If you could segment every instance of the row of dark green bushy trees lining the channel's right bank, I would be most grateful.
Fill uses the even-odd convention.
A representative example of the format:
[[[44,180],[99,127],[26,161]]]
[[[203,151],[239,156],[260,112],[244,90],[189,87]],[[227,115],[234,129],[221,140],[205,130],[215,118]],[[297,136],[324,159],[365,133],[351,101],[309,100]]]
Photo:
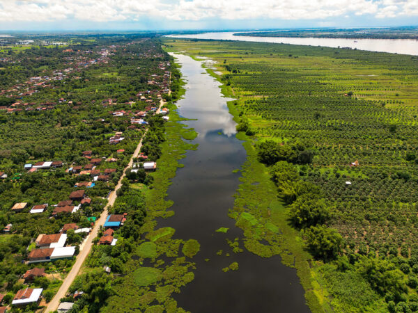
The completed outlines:
[[[289,220],[294,227],[303,231],[307,248],[312,255],[324,261],[335,259],[341,252],[342,236],[336,230],[325,226],[330,218],[330,208],[320,188],[304,182],[297,168],[290,163],[300,162],[301,154],[304,155],[306,152],[303,148],[297,149],[298,146],[302,147],[266,141],[257,146],[258,157],[261,162],[270,166],[272,179],[279,188],[279,195],[289,206]]]

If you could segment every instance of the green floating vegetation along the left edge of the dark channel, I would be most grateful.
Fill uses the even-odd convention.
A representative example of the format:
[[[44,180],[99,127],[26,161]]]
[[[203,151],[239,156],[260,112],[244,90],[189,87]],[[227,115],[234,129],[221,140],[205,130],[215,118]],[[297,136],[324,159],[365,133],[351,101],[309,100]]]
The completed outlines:
[[[114,280],[114,294],[102,312],[185,312],[177,307],[171,294],[180,292],[181,287],[194,279],[192,258],[199,252],[200,245],[194,239],[173,239],[175,229],[157,226],[157,218],[169,218],[174,214],[169,210],[173,203],[165,198],[177,168],[182,167],[178,161],[185,157],[187,150],[197,147],[187,142],[197,136],[196,131],[181,124],[185,119],[176,111],[174,102],[185,92],[183,81],[179,85],[180,89],[166,105],[170,110],[169,121],[165,123],[166,140],[161,145],[158,169],[151,174],[153,184],[130,185],[144,198],[147,216],[140,229],[141,236],[132,242],[123,276]]]

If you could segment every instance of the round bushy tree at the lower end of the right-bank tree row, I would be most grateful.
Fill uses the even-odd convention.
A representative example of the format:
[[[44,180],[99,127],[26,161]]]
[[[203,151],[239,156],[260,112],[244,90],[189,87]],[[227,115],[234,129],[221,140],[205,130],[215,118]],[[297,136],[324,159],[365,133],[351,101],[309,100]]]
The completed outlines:
[[[309,252],[316,259],[329,261],[341,251],[343,237],[336,230],[325,226],[311,226],[304,230],[304,238]]]

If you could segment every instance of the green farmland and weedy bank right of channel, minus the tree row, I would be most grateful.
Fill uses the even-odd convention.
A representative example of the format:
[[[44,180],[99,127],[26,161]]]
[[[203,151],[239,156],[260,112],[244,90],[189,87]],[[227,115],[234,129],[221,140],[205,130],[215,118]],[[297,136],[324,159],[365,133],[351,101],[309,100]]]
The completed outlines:
[[[247,125],[249,136],[240,136],[249,159],[230,216],[245,230],[245,248],[264,257],[280,253],[295,266],[314,312],[415,312],[418,57],[256,42],[163,42],[169,51],[216,61],[208,72],[237,99],[229,106]],[[268,140],[314,155],[294,168],[297,180],[319,187],[330,210],[325,225],[342,235],[334,260],[314,261],[304,251],[304,232],[288,220],[291,206],[277,201],[271,169],[256,158],[258,143]]]

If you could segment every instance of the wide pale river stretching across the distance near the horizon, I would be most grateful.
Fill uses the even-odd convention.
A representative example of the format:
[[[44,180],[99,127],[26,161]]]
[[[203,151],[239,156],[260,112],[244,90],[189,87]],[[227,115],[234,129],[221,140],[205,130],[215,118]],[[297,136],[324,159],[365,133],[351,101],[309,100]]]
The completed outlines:
[[[198,33],[193,35],[168,35],[173,38],[196,38],[214,40],[238,40],[254,42],[274,42],[291,45],[309,45],[323,47],[350,47],[352,49],[389,52],[392,54],[418,55],[418,40],[413,39],[346,39],[346,38],[286,38],[235,36],[236,31]]]

